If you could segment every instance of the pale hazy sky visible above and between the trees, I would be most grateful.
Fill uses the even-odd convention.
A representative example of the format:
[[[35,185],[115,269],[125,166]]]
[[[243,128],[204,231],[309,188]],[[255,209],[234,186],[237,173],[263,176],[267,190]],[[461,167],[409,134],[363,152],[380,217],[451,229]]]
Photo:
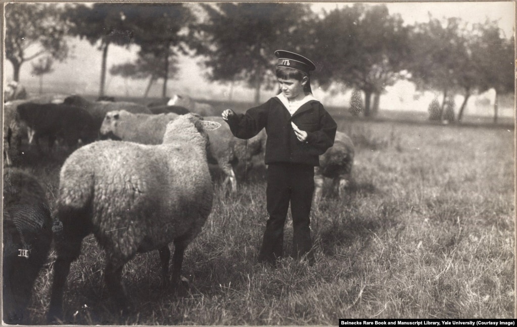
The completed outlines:
[[[340,6],[349,6],[352,3],[314,3],[313,9],[316,12],[321,10],[330,11]],[[378,4],[378,3],[369,3]],[[486,18],[490,20],[497,20],[499,27],[504,30],[507,37],[514,34],[514,3],[512,1],[505,2],[395,2],[386,3],[390,14],[400,13],[402,19],[406,24],[414,24],[415,22],[428,21],[428,13],[431,13],[433,18],[442,19],[449,17],[459,17],[465,22],[482,23]],[[97,51],[92,45],[86,41],[75,41],[75,50],[73,57],[69,58],[65,63],[55,65],[54,72],[44,75],[44,81],[55,81],[63,85],[64,92],[77,92],[97,94],[100,80],[100,63],[101,53]],[[132,60],[136,57],[136,47],[133,46],[130,50],[121,48],[119,46],[110,46],[108,53],[108,69],[119,63]],[[189,58],[181,57],[179,61],[180,72],[175,80],[170,81],[169,96],[179,94],[189,94],[193,98],[198,99],[228,99],[230,96],[230,86],[220,85],[218,83],[209,83],[203,77],[203,72],[196,65],[196,63]],[[25,63],[22,66],[20,80],[28,86],[34,87],[37,85],[38,78],[31,76],[32,66],[30,63]],[[5,62],[5,76],[6,80],[10,81],[12,77],[11,64]],[[399,90],[397,99],[402,99],[402,95],[406,94],[408,97],[413,97],[414,89],[404,84],[404,89]],[[144,94],[147,81],[124,81],[121,77],[114,77],[107,75],[107,95],[113,96],[141,96]],[[159,96],[161,90],[161,81],[155,85],[151,96]],[[267,91],[263,92],[262,98],[267,99],[269,94]],[[323,91],[314,90],[315,96],[319,95],[322,100],[342,102],[345,99],[339,97],[329,97]],[[253,99],[253,90],[247,89],[243,86],[235,85],[232,89],[233,99],[251,100]],[[385,99],[383,101],[383,99]],[[389,101],[389,95],[383,96],[381,107],[383,103]],[[346,100],[348,101],[348,100]],[[400,106],[400,103],[396,104]]]

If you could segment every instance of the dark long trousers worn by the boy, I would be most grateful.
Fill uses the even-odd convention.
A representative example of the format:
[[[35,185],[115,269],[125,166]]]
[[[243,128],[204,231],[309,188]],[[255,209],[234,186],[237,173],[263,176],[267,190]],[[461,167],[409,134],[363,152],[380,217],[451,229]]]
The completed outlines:
[[[310,214],[314,192],[314,167],[301,164],[270,164],[267,168],[267,212],[269,218],[264,231],[258,261],[275,263],[282,257],[284,224],[291,203],[293,216],[293,252],[295,259],[311,251]]]

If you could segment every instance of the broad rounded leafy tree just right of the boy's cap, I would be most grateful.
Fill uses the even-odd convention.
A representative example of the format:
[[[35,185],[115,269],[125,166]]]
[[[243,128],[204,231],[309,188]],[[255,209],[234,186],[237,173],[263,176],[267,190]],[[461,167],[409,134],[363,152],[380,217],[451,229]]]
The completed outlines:
[[[404,76],[409,60],[408,27],[385,5],[355,4],[334,9],[315,23],[307,50],[323,63],[318,81],[343,82],[364,92],[364,115],[370,116],[386,86]]]

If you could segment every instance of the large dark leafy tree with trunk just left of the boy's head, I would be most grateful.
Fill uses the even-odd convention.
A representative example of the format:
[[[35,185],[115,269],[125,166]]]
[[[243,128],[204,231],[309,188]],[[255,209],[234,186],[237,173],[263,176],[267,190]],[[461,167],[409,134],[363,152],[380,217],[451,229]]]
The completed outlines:
[[[211,81],[245,81],[260,101],[278,49],[300,50],[300,24],[310,15],[306,4],[219,3],[203,4],[207,19],[191,28]],[[270,75],[269,75],[270,76]]]

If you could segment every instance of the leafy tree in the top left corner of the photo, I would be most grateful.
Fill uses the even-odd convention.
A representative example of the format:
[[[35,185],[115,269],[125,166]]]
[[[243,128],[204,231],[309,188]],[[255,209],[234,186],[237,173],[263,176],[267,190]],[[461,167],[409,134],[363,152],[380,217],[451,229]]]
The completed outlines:
[[[68,56],[66,24],[55,4],[9,3],[5,5],[5,56],[20,81],[24,63],[42,56],[63,61]]]

